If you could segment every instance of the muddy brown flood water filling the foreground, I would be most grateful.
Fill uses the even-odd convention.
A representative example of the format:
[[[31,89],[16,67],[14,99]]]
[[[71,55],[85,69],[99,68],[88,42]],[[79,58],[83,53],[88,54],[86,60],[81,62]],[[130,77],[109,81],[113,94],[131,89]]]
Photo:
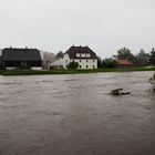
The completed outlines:
[[[0,76],[0,155],[155,155],[152,75]]]

